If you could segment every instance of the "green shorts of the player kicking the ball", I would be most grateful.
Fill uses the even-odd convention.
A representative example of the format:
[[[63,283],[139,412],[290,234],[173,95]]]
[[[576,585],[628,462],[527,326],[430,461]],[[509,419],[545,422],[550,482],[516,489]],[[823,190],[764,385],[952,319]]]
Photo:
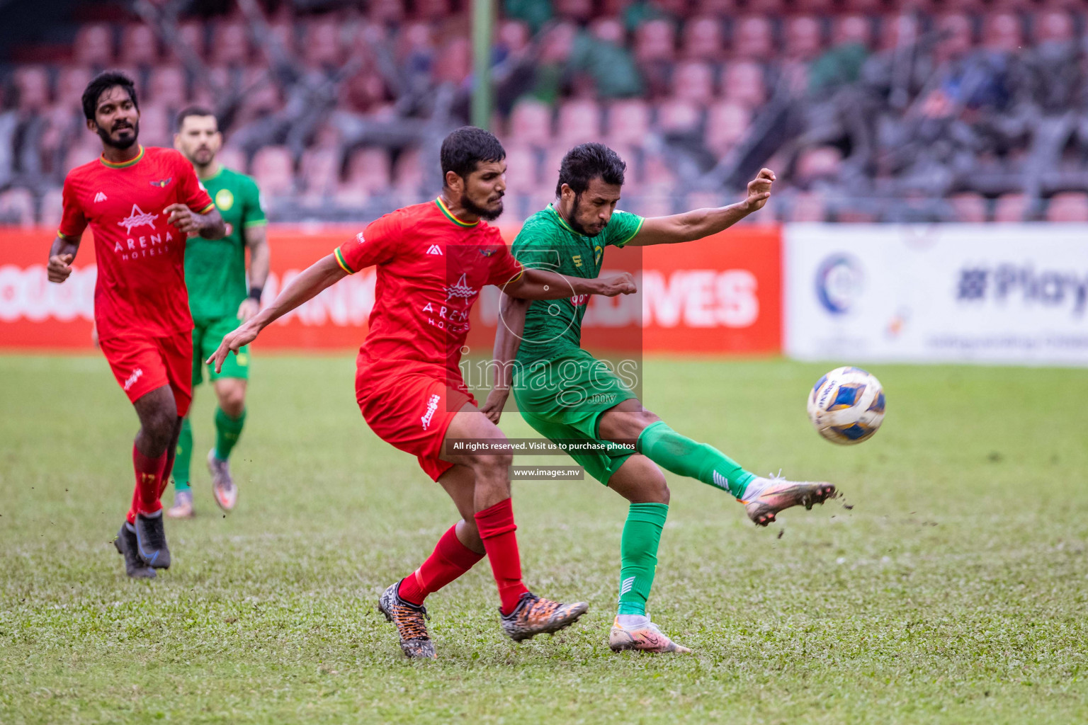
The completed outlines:
[[[607,363],[589,352],[572,350],[516,371],[512,391],[521,417],[548,440],[615,446],[616,450],[603,453],[570,453],[605,486],[632,455],[630,448],[602,440],[597,436],[597,421],[601,413],[636,396]]]

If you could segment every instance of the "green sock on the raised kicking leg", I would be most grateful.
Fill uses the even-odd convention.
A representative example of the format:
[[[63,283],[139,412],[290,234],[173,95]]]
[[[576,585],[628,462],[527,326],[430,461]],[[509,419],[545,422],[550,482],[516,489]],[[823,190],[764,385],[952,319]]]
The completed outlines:
[[[665,425],[651,423],[639,436],[639,452],[680,476],[697,478],[740,498],[755,474],[749,473],[714,446],[698,443]]]

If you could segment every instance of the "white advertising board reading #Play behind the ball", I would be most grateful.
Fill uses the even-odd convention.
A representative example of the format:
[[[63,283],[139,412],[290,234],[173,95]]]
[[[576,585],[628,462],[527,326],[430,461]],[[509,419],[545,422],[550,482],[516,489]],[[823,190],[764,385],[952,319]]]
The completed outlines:
[[[790,224],[786,353],[1088,365],[1088,225]]]

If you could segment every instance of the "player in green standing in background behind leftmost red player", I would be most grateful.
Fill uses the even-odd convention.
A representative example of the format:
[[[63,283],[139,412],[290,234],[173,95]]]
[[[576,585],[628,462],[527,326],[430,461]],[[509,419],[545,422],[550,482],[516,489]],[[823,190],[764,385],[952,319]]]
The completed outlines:
[[[254,179],[222,166],[215,153],[223,143],[215,115],[206,109],[188,108],[177,116],[174,147],[196,168],[200,183],[226,222],[226,236],[209,241],[190,237],[185,247],[185,284],[189,288],[193,313],[193,385],[203,379],[207,360],[223,336],[260,311],[261,290],[269,276],[269,248],[264,212]],[[246,249],[249,249],[249,286],[246,286]],[[227,358],[217,373],[208,367],[215,390],[215,446],[208,452],[212,493],[223,511],[231,511],[238,488],[231,477],[230,457],[246,422],[246,382],[249,379],[249,350]],[[182,422],[174,459],[174,505],[166,515],[193,516],[189,462],[193,458],[193,427],[188,415]]]

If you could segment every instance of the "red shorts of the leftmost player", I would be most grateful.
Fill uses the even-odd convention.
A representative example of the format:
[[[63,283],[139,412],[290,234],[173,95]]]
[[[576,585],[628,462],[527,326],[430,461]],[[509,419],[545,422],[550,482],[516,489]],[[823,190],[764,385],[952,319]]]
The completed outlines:
[[[101,340],[118,385],[136,402],[156,388],[174,391],[177,414],[185,415],[193,402],[193,333],[170,337],[126,335]]]

